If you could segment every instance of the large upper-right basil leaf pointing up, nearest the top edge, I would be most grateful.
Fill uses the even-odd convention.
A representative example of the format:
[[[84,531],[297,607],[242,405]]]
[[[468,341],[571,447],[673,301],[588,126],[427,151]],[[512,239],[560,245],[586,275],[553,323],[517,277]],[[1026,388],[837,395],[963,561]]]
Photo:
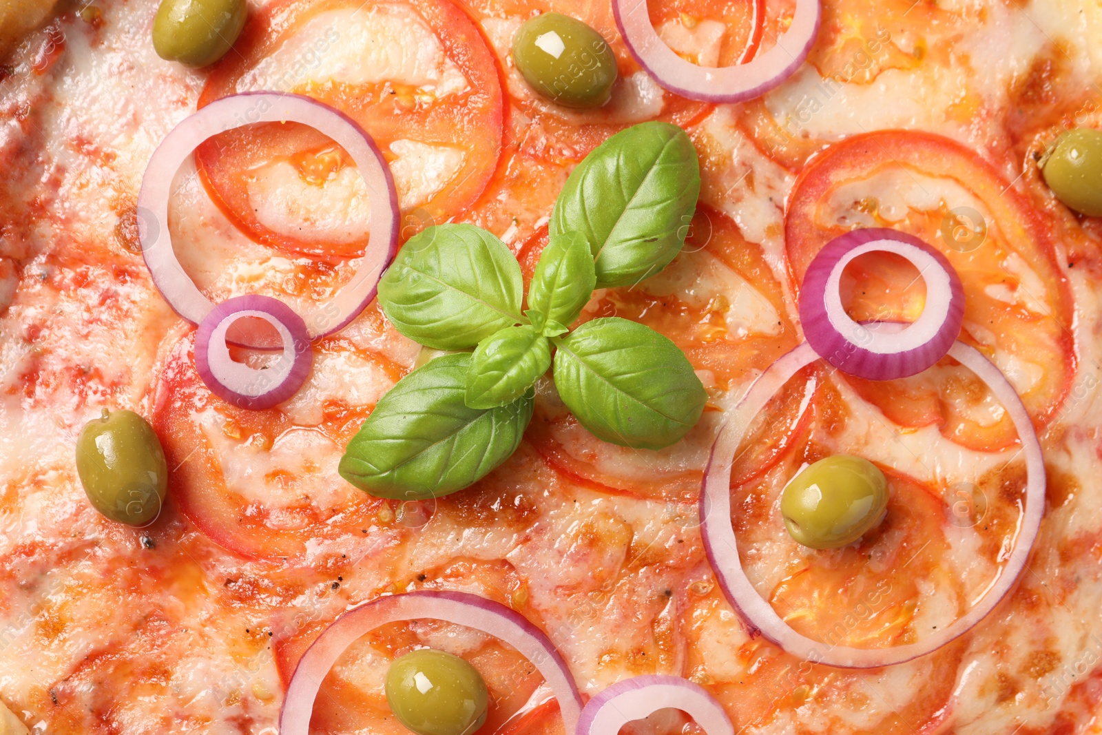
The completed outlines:
[[[606,140],[571,172],[550,233],[585,236],[598,288],[638,283],[681,251],[699,195],[689,136],[667,122],[644,122]]]

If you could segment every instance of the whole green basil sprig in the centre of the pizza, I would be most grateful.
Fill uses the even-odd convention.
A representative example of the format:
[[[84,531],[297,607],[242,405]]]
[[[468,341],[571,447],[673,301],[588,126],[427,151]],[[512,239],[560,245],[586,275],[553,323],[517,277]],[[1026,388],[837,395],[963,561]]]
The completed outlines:
[[[349,442],[341,475],[389,498],[467,487],[516,451],[549,368],[597,437],[649,450],[679,441],[707,399],[684,353],[624,318],[569,325],[594,288],[637,283],[680,252],[699,192],[680,128],[645,122],[609,138],[566,180],[525,311],[520,266],[494,235],[440,225],[411,238],[379,282],[383,313],[426,347],[474,352],[399,380]]]

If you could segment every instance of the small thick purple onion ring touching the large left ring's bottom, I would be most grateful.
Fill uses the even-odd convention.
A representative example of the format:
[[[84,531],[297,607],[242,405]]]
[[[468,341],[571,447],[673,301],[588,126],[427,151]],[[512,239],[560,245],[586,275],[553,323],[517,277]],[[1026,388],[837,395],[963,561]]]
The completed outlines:
[[[237,320],[257,317],[280,335],[283,354],[271,367],[257,369],[229,356],[226,331]],[[242,409],[260,411],[298,392],[313,364],[310,334],[302,317],[271,296],[234,296],[222,302],[199,322],[195,335],[195,367],[215,396]]]

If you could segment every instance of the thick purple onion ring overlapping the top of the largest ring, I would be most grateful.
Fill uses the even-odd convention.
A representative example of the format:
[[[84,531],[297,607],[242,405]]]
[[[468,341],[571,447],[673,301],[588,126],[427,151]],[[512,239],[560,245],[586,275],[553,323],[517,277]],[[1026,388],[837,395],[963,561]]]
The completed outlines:
[[[842,271],[857,256],[876,251],[906,258],[926,281],[926,307],[903,329],[857,324],[842,306]],[[963,321],[964,288],[957,270],[934,248],[895,229],[856,229],[835,237],[803,275],[800,322],[808,344],[858,378],[893,380],[921,372],[946,356]]]

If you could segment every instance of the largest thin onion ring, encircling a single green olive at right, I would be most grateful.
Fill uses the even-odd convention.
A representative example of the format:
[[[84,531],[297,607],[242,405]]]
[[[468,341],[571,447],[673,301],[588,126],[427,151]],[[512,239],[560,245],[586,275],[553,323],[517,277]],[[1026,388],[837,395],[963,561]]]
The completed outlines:
[[[769,398],[798,370],[817,359],[814,349],[808,343],[803,343],[769,366],[750,386],[749,391],[734,409],[732,418],[720,430],[704,471],[700,511],[704,550],[727,599],[752,626],[752,635],[760,633],[788,653],[814,663],[850,669],[873,669],[904,663],[931,653],[971,630],[1014,586],[1037,540],[1045,510],[1045,463],[1040,444],[1022,399],[994,364],[974,347],[962,342],[955,343],[949,349],[949,355],[987,383],[995,397],[1006,407],[1017,429],[1026,460],[1026,509],[1009,560],[1000,572],[996,582],[979,603],[949,627],[925,637],[917,644],[880,649],[831,647],[807,638],[785,623],[774,612],[773,606],[758,595],[743,570],[735,531],[731,523],[731,465],[750,422],[761,412]]]

